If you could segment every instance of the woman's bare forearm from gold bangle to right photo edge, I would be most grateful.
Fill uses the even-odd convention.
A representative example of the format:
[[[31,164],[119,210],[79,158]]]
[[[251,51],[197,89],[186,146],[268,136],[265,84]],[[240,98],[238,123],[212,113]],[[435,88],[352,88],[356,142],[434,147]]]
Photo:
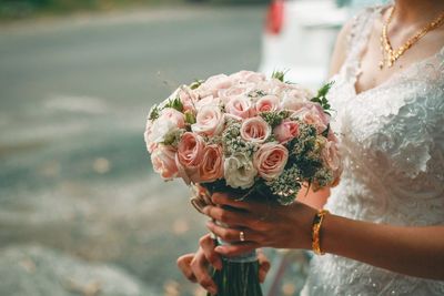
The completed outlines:
[[[402,227],[326,215],[321,246],[392,272],[444,279],[444,226]]]

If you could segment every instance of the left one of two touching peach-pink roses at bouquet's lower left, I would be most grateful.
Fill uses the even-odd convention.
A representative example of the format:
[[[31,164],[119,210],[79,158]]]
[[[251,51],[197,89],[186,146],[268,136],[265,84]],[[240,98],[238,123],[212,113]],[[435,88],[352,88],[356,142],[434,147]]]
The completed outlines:
[[[199,165],[202,162],[204,147],[203,139],[191,132],[184,133],[179,142],[175,163],[180,176],[186,184],[200,181]]]

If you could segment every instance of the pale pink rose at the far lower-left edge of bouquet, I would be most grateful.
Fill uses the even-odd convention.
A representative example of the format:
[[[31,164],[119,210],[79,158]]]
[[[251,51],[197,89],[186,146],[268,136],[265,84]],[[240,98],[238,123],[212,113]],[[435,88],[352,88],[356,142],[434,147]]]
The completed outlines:
[[[178,166],[175,164],[175,150],[171,146],[159,145],[151,153],[151,162],[154,172],[164,180],[172,180],[178,176]]]

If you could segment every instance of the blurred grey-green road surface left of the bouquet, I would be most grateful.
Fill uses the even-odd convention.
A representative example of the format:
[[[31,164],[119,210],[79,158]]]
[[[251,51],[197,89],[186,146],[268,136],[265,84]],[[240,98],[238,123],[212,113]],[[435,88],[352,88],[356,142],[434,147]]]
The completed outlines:
[[[72,261],[115,268],[140,295],[201,295],[175,258],[203,218],[184,185],[152,173],[144,119],[179,83],[255,70],[263,17],[195,7],[0,28],[0,295],[98,295],[94,275],[74,285],[63,273],[65,294],[51,289],[60,280],[32,287],[30,275]]]

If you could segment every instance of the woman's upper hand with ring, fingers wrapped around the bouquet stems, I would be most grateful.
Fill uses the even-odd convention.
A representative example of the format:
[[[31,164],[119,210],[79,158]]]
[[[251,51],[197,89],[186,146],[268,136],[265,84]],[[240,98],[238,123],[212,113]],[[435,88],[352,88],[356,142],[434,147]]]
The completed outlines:
[[[316,210],[295,202],[291,205],[236,201],[215,193],[218,206],[206,206],[203,213],[221,222],[208,223],[208,228],[231,245],[218,246],[215,252],[236,256],[266,246],[275,248],[311,248],[312,221]],[[241,242],[241,232],[244,241]]]

